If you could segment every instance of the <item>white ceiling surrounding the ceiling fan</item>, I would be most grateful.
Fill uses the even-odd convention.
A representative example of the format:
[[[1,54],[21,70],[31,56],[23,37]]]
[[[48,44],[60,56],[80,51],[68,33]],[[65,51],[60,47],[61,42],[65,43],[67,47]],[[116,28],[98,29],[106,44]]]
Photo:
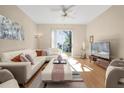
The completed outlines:
[[[59,5],[19,5],[36,24],[87,24],[111,6],[108,5],[75,5],[71,8],[71,17],[61,17]]]

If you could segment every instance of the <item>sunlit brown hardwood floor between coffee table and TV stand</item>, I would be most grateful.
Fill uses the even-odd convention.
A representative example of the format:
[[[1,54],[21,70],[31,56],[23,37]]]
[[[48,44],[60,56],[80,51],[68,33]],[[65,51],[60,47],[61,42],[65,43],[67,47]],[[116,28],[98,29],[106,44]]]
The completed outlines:
[[[105,69],[99,67],[88,59],[77,59],[83,68],[81,76],[85,84],[89,88],[104,88],[105,87]]]

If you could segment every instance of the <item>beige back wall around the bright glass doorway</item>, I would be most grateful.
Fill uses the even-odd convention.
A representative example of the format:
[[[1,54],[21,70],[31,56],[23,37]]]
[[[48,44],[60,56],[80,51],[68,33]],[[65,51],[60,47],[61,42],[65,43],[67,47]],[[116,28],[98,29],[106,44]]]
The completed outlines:
[[[39,39],[39,48],[50,48],[52,30],[70,29],[72,30],[73,56],[80,56],[82,42],[86,40],[86,25],[38,25],[38,32],[43,36]]]

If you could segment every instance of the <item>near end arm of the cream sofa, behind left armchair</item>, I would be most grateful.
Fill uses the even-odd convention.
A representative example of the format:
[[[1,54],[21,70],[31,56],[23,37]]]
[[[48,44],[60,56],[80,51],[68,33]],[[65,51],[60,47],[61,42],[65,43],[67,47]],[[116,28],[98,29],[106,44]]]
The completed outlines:
[[[31,77],[30,62],[1,62],[0,67],[10,70],[19,84],[26,83]]]

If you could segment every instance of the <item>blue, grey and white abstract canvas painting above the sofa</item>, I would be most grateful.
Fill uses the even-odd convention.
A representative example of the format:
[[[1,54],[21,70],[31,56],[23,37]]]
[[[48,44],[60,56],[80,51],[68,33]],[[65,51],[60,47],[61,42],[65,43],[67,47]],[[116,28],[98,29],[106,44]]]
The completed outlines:
[[[9,18],[0,15],[0,39],[24,40],[22,26],[12,22]]]

